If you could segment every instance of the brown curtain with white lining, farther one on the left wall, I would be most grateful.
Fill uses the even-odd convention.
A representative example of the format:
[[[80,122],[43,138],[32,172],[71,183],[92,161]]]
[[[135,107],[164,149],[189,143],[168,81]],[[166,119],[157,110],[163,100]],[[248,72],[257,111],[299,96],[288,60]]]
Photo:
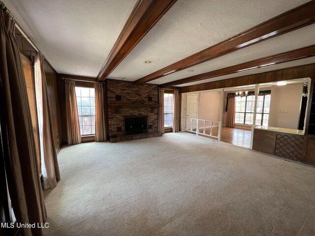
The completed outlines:
[[[41,136],[41,171],[43,175],[43,188],[54,188],[57,186],[57,181],[60,180],[59,165],[56,153],[56,147],[54,142],[54,130],[53,130],[53,120],[50,110],[50,102],[47,93],[47,81],[44,68],[44,58],[41,55],[35,57],[35,77],[37,80],[41,81],[41,102],[40,104],[41,111],[38,114],[41,114],[42,118],[39,120],[40,136]]]

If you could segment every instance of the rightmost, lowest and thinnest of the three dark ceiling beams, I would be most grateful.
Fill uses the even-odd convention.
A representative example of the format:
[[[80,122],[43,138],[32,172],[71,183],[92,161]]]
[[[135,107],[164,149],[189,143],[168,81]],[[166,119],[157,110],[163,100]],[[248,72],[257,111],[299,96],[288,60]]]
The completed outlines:
[[[182,84],[186,84],[190,82],[210,79],[210,78],[214,78],[214,77],[218,77],[222,75],[234,74],[234,73],[238,73],[238,72],[242,72],[246,70],[262,68],[269,65],[275,65],[279,63],[288,62],[291,60],[303,59],[303,58],[308,58],[308,57],[313,57],[313,56],[315,56],[315,45],[277,54],[271,57],[248,61],[245,63],[225,67],[222,69],[206,72],[199,75],[194,75],[194,76],[184,78],[181,80],[176,80],[169,83],[161,84],[159,87],[164,88],[168,86],[182,85]]]

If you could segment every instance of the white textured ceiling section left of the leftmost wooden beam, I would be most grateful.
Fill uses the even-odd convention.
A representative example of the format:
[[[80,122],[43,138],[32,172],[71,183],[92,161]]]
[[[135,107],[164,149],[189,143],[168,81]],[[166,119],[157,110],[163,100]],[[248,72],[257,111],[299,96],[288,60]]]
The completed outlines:
[[[96,77],[136,0],[2,0],[59,73]]]

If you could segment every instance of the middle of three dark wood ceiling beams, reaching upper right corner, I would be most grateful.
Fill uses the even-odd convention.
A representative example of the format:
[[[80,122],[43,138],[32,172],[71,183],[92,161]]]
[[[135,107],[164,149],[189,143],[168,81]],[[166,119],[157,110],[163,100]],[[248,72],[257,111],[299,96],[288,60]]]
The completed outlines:
[[[315,23],[315,0],[307,2],[260,25],[228,38],[185,59],[179,60],[133,82],[140,85],[190,66],[215,59],[239,49]]]

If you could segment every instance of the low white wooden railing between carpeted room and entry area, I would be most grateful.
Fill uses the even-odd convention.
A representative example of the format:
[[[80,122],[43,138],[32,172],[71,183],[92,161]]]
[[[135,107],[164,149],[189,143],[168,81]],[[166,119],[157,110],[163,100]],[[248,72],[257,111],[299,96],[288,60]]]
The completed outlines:
[[[217,136],[213,132],[213,127],[218,127]],[[196,135],[202,134],[211,138],[218,138],[220,137],[219,127],[220,121],[182,117],[182,130],[195,133]]]

